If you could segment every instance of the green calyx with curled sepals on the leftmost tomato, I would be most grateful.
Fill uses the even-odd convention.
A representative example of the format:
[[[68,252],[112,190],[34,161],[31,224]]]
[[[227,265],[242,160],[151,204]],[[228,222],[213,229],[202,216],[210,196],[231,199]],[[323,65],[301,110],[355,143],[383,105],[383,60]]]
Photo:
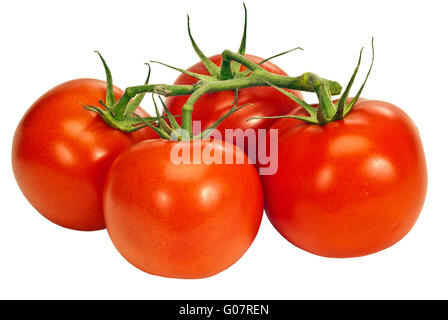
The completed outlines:
[[[126,105],[124,105],[125,108],[120,105],[117,106],[113,89],[112,73],[107,66],[107,63],[104,60],[103,56],[98,51],[95,52],[100,57],[101,62],[103,63],[104,70],[106,72],[106,101],[98,101],[98,103],[103,108],[99,108],[93,105],[83,105],[83,108],[85,110],[97,113],[110,127],[121,130],[123,132],[134,132],[145,127],[146,125],[142,121],[142,119],[144,119],[146,122],[156,121],[157,117],[138,118],[134,116],[134,111],[142,102],[145,93],[138,94],[134,99],[129,100]],[[151,75],[151,67],[149,64],[146,65],[148,66],[148,75],[146,77],[145,84],[148,84],[149,77]]]

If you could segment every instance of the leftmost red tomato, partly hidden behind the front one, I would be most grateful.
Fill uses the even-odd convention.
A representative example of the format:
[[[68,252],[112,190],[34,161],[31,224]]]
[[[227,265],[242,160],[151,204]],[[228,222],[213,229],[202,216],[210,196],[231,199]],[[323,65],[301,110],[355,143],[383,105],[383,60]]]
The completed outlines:
[[[114,88],[114,94],[123,92]],[[60,84],[30,107],[14,135],[12,166],[20,189],[43,216],[66,228],[105,228],[102,189],[110,165],[130,145],[157,136],[149,128],[132,134],[112,129],[80,104],[99,107],[105,96],[100,80]]]

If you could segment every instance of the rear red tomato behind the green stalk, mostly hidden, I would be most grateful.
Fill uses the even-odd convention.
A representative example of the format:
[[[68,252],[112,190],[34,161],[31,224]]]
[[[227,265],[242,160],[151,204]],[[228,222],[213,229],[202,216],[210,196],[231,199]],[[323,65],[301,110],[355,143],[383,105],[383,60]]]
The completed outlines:
[[[262,58],[249,54],[246,54],[245,57],[255,63],[260,63],[263,60]],[[222,56],[215,55],[210,57],[210,60],[216,65],[221,66]],[[261,67],[274,74],[287,75],[282,69],[269,61],[263,63]],[[241,70],[245,69],[246,68],[243,66]],[[195,73],[208,75],[207,69],[205,69],[202,62],[193,65],[188,70]],[[174,84],[186,85],[194,84],[196,82],[197,80],[193,77],[181,74],[176,79]],[[299,91],[290,91],[302,98]],[[166,105],[172,114],[181,115],[182,106],[188,98],[189,96],[167,97]],[[207,93],[201,96],[194,104],[194,111],[192,115],[193,121],[200,120],[202,129],[208,128],[230,109],[232,104],[235,103],[234,99],[235,94],[233,91]],[[294,110],[297,106],[293,100],[276,89],[270,87],[246,88],[239,90],[238,105],[244,105],[247,103],[250,103],[250,105],[247,105],[238,112],[235,112],[218,126],[217,129],[222,134],[224,134],[225,129],[269,129],[275,123],[275,119],[259,119],[252,121],[246,120],[251,117],[268,117],[287,114]],[[230,142],[234,143],[234,141]]]

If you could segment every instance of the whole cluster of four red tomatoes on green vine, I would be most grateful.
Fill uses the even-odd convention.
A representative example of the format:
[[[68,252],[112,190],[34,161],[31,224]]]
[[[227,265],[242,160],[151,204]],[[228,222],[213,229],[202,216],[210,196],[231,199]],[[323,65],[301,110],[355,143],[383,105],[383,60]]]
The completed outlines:
[[[201,62],[178,69],[171,86],[122,91],[103,60],[107,82],[72,80],[31,106],[14,135],[12,167],[37,211],[70,229],[107,228],[130,263],[174,278],[208,277],[234,264],[264,209],[288,241],[326,257],[371,254],[406,235],[422,209],[427,172],[404,111],[359,99],[360,92],[347,99],[353,81],[332,101],[334,82],[288,77],[245,55],[245,45],[206,58],[192,43]],[[320,103],[306,104],[301,88]],[[162,115],[137,107],[135,96],[147,92],[168,96]],[[241,104],[249,105],[235,108]],[[221,133],[269,130],[258,146],[275,153],[276,170],[260,175],[264,164],[233,139],[192,134],[193,120],[220,125]]]

